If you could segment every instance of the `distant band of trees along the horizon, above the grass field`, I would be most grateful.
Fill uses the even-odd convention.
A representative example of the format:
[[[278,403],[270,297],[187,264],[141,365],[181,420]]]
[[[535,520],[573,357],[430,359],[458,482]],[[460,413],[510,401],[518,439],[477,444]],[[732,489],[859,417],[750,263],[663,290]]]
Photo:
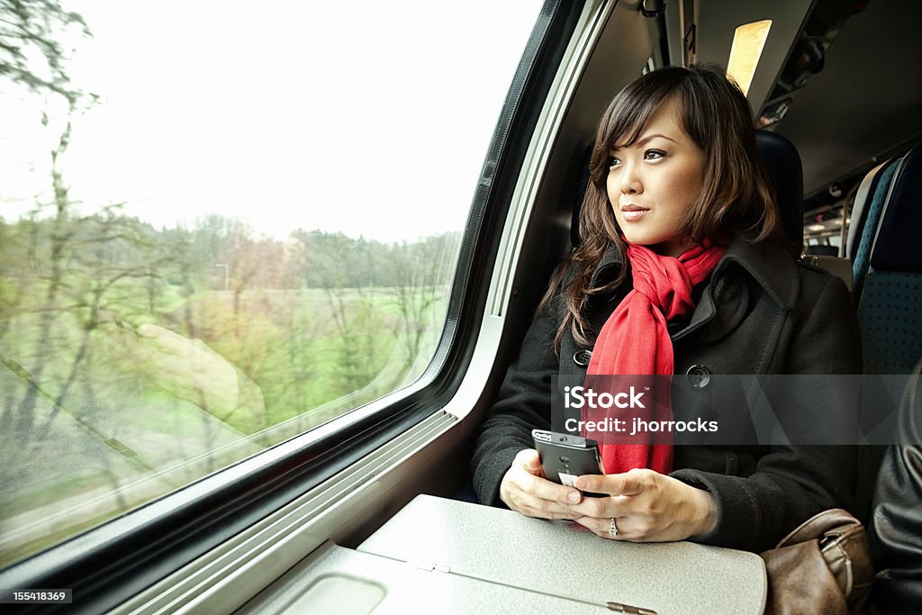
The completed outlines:
[[[84,272],[149,278],[149,284],[183,285],[187,291],[431,286],[445,281],[444,259],[460,237],[446,232],[386,243],[297,230],[279,241],[220,215],[200,219],[192,229],[157,230],[122,215],[121,206],[85,217],[69,215],[68,207],[62,216],[42,216],[47,209],[38,207],[12,222],[0,216],[4,278]]]

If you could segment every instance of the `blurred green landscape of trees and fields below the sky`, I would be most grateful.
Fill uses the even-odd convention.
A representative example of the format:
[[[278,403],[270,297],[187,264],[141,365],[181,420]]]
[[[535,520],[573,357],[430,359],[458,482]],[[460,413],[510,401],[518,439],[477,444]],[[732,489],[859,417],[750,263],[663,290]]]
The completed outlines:
[[[0,222],[5,534],[18,515],[79,519],[74,497],[106,501],[94,519],[126,510],[358,408],[419,377],[442,333],[459,233],[281,242],[219,216],[156,230],[118,207],[41,211]],[[219,359],[190,365],[145,325]]]

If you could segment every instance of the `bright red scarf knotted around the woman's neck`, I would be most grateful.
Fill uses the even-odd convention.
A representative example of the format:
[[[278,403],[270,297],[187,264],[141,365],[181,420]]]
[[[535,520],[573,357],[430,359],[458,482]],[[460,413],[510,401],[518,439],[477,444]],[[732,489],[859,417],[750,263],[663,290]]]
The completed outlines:
[[[667,323],[686,318],[694,311],[691,290],[701,284],[723,257],[726,248],[696,246],[679,257],[660,256],[643,245],[628,244],[633,290],[609,316],[598,334],[592,360],[586,371],[594,374],[638,374],[671,376],[675,364]],[[654,379],[663,383],[663,378]],[[668,379],[666,380],[668,383]],[[587,384],[588,388],[591,388]],[[666,390],[659,390],[665,388]],[[672,418],[669,387],[653,387],[652,395],[663,411],[655,420]],[[653,404],[647,404],[652,407]],[[663,416],[663,415],[666,416]],[[618,416],[623,415],[619,414]],[[628,415],[630,416],[630,415]],[[631,432],[630,421],[628,433]],[[672,470],[672,444],[599,444],[606,474],[649,467],[668,474]]]

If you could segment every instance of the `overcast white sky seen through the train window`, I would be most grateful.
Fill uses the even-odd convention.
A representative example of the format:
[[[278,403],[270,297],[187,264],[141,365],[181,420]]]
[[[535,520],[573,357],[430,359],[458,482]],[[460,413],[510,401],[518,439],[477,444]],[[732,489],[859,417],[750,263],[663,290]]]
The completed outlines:
[[[540,0],[66,3],[100,104],[62,168],[89,207],[156,225],[219,213],[383,241],[460,229]],[[0,83],[0,215],[50,194],[62,117]]]

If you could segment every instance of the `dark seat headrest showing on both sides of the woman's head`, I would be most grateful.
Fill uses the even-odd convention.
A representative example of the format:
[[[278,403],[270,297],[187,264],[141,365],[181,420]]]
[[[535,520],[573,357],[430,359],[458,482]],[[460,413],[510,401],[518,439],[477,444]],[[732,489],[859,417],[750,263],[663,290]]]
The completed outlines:
[[[778,214],[781,219],[785,237],[798,248],[804,242],[803,169],[800,155],[794,144],[784,136],[767,130],[755,131],[756,146],[762,164],[774,182],[775,199],[778,202]],[[589,182],[589,160],[592,158],[592,145],[585,148],[580,165],[579,186],[576,191],[576,203],[570,223],[570,241],[573,247],[579,245],[579,212],[583,207],[585,188]]]

